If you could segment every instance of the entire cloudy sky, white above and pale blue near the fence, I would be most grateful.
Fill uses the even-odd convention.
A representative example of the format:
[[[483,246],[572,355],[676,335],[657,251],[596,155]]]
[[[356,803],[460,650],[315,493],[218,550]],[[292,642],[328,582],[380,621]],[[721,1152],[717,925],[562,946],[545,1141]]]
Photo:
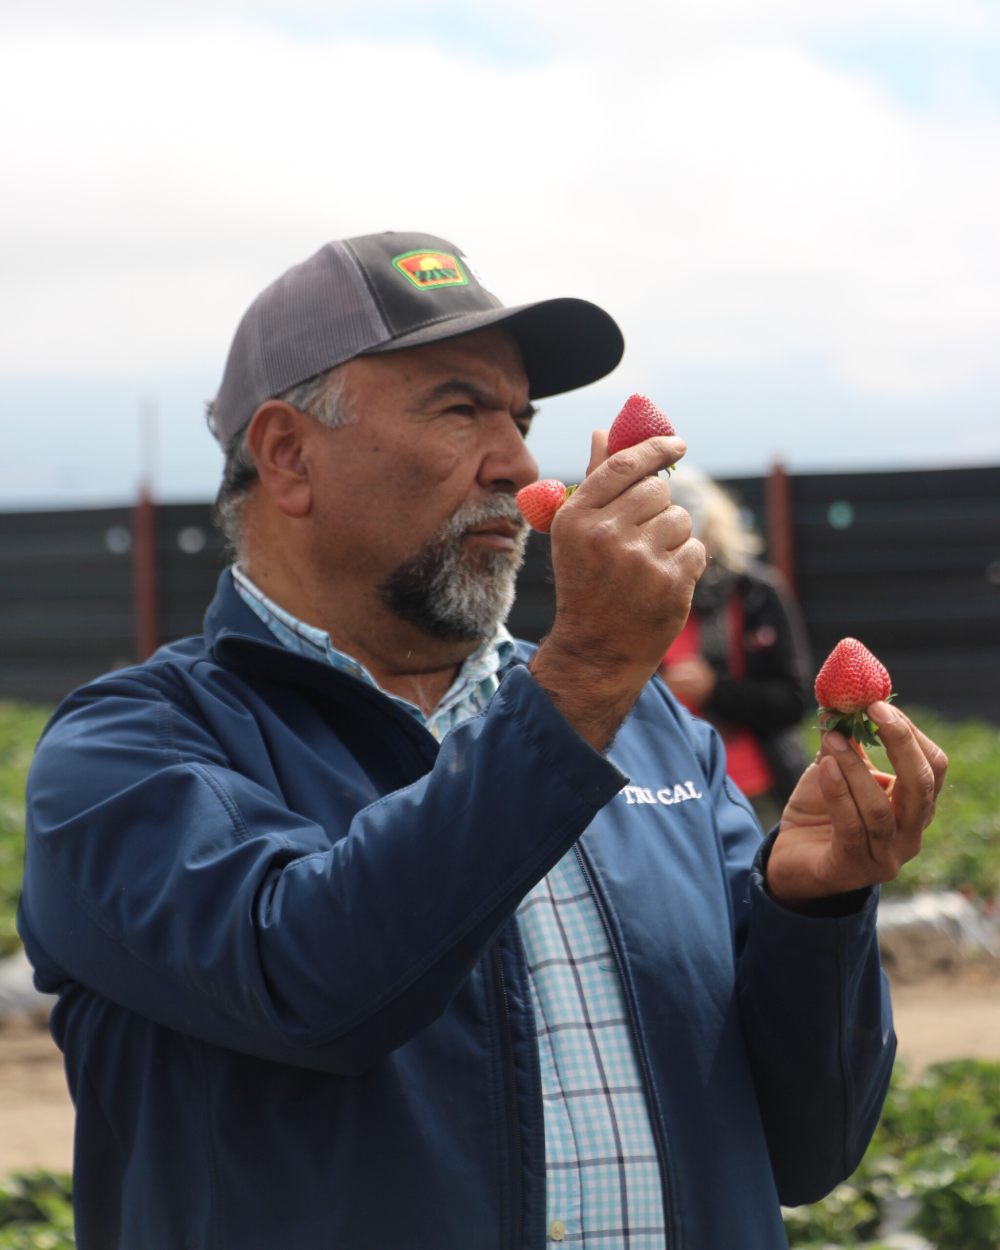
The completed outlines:
[[[0,506],[212,494],[258,290],[428,230],[628,342],[720,474],[1000,461],[998,0],[0,0]]]

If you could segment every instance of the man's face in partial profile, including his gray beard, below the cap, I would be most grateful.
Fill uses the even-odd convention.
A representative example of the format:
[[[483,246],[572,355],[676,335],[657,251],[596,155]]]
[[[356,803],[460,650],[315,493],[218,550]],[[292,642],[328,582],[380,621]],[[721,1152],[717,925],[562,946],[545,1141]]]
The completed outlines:
[[[319,430],[310,448],[315,554],[368,575],[436,638],[489,635],[528,536],[514,495],[538,476],[516,342],[490,329],[359,358],[345,375],[355,421]]]

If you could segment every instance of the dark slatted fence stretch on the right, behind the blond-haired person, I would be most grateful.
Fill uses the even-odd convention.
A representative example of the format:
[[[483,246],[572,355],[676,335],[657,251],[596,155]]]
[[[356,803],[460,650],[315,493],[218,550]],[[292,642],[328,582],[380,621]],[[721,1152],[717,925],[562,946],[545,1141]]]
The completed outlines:
[[[765,479],[725,485],[764,531]],[[852,635],[904,704],[1000,722],[1000,469],[801,474],[791,486],[816,662]]]

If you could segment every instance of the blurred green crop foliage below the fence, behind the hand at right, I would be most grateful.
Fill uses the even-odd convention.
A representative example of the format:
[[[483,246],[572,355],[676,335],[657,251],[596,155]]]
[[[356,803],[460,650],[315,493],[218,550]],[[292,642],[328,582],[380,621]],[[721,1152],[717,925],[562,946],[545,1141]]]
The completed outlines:
[[[944,750],[949,768],[922,851],[886,889],[911,894],[969,885],[990,898],[1000,892],[1000,730],[982,720],[956,722],[919,709],[905,711]],[[805,739],[811,759],[819,748],[815,721]],[[869,755],[878,768],[892,771],[880,746]]]

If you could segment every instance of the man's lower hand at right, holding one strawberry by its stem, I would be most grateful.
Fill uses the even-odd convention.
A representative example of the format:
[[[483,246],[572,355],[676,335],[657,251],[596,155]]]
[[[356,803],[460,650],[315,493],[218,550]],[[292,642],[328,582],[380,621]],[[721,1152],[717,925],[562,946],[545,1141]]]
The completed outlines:
[[[879,772],[838,732],[824,734],[795,788],[768,861],[782,906],[880,885],[920,851],[948,769],[945,752],[899,709],[868,709],[896,775]]]

